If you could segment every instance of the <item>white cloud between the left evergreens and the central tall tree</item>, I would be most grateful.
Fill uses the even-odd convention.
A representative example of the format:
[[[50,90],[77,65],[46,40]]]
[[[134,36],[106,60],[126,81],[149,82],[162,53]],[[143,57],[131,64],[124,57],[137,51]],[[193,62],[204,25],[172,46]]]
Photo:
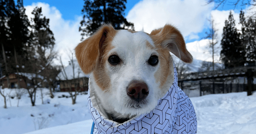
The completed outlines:
[[[80,43],[81,35],[79,33],[80,20],[82,17],[77,16],[76,20],[64,20],[61,12],[54,6],[49,6],[47,3],[32,3],[31,6],[25,6],[26,15],[29,20],[33,17],[31,12],[38,6],[42,7],[42,14],[46,18],[49,18],[49,26],[55,37],[55,49],[61,55],[64,65],[68,65],[69,58],[66,52],[71,49],[73,50],[78,43]],[[58,62],[55,62],[58,64]]]

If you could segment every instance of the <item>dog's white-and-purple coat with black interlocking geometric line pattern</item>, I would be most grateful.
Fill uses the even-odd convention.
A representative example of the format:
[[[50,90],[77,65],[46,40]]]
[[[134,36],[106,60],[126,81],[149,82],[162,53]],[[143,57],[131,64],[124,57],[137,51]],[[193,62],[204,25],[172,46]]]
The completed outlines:
[[[125,123],[105,119],[93,107],[88,92],[88,106],[95,123],[93,134],[196,134],[197,118],[189,97],[177,86],[175,80],[169,91],[158,100],[158,105],[148,114],[134,117]]]

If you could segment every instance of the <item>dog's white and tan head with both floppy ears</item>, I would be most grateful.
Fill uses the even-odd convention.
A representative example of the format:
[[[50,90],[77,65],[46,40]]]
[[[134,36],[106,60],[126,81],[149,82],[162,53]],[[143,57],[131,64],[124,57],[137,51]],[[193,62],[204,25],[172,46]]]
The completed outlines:
[[[147,34],[102,26],[76,47],[81,69],[90,75],[90,90],[116,118],[147,113],[173,83],[171,51],[192,62],[182,35],[166,25]]]

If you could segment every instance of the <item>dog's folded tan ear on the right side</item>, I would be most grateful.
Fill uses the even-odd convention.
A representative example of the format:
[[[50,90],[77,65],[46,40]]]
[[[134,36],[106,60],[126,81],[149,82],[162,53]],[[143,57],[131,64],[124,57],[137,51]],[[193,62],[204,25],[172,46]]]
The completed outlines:
[[[187,51],[185,41],[180,34],[180,31],[171,25],[165,25],[163,28],[153,30],[150,34],[154,37],[157,44],[167,48],[185,63],[192,63],[193,57]]]

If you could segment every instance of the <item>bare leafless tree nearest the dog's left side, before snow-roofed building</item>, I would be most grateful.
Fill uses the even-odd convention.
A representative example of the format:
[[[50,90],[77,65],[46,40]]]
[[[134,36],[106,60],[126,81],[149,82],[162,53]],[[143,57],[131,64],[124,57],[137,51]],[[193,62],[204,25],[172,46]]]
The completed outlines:
[[[65,70],[65,67],[63,65],[63,62],[61,60],[61,56],[59,56],[57,58],[57,60],[59,61],[59,63],[61,63],[61,74],[64,77],[64,80],[66,80],[66,84],[67,84],[67,88],[68,88],[68,92],[70,94],[70,97],[72,99],[72,104],[76,104],[76,96],[78,95],[78,93],[81,91],[80,88],[80,74],[81,74],[81,69],[79,68],[79,66],[75,63],[75,59],[74,59],[74,53],[69,50],[69,53],[67,53],[70,62],[69,65],[72,68],[72,77],[69,77],[67,75],[67,71]],[[77,74],[77,75],[76,75]],[[59,79],[61,79],[59,77]]]

